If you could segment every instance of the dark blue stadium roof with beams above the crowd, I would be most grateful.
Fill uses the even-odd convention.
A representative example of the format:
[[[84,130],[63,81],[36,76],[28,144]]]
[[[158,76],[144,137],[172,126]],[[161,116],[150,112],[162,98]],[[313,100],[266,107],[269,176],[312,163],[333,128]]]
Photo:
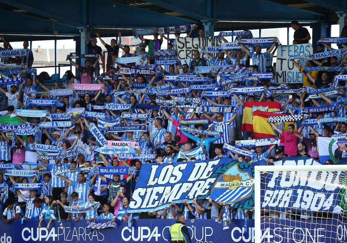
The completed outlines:
[[[294,19],[337,24],[336,12],[347,12],[346,0],[0,0],[0,34],[64,39],[80,36],[87,25],[107,36],[118,30],[130,35],[134,27],[210,22],[215,31],[288,27]]]

